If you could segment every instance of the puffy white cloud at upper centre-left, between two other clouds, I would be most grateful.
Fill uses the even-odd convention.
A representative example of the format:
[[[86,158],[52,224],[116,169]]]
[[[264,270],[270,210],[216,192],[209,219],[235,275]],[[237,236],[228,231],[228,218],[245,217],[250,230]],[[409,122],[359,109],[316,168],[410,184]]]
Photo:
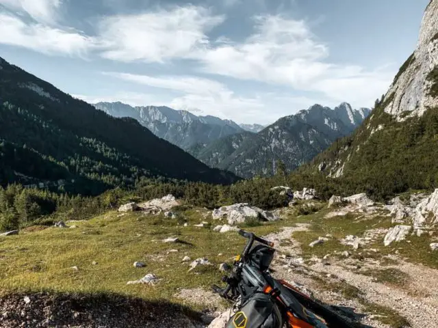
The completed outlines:
[[[163,62],[186,57],[209,42],[206,31],[222,23],[203,7],[188,5],[136,15],[103,18],[101,55],[118,61]]]

